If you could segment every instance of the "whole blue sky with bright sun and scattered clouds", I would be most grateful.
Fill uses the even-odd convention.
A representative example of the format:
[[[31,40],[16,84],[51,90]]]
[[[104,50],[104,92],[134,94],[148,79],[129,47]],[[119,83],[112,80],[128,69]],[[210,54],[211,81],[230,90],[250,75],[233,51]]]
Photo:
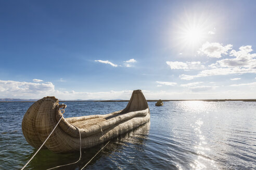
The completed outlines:
[[[1,1],[0,98],[255,98],[255,1]]]

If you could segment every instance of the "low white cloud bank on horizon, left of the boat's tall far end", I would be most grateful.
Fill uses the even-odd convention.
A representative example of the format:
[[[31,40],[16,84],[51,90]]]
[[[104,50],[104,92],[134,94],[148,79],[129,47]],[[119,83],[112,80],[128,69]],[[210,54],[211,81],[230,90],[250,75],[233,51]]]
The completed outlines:
[[[0,80],[0,96],[3,98],[39,99],[45,96],[56,96],[60,100],[76,99],[129,99],[131,90],[107,92],[58,91],[52,82],[35,83],[25,81]]]

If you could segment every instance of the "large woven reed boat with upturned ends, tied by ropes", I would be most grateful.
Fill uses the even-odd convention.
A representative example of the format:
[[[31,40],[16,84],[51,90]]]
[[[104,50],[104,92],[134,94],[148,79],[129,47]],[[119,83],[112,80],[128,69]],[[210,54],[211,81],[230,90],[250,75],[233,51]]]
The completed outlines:
[[[25,113],[22,132],[28,143],[39,148],[61,118],[57,98],[44,97]],[[134,90],[127,106],[107,115],[62,118],[44,148],[57,153],[73,152],[104,143],[149,122],[150,111],[141,90]]]

